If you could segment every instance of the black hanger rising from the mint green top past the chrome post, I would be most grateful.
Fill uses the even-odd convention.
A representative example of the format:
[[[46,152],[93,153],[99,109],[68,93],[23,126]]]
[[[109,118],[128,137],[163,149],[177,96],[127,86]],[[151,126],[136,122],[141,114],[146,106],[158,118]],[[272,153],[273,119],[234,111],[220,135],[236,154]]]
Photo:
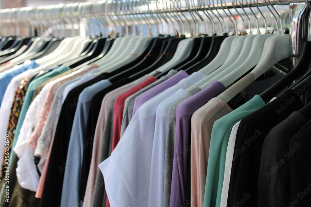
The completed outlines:
[[[304,72],[309,69],[311,63],[311,41],[304,42],[300,49],[300,55],[294,68],[286,74],[282,79],[273,84],[270,88],[260,94],[265,103],[268,103],[276,94],[286,88],[290,83],[299,78]]]

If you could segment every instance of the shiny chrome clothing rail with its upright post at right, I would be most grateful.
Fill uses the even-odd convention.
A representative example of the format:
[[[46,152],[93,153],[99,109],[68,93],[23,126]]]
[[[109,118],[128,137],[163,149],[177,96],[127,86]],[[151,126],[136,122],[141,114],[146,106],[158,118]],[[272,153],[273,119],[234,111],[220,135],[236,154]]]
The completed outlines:
[[[168,6],[169,2],[169,6]],[[116,25],[127,23],[124,19],[128,20],[145,20],[145,23],[155,23],[156,20],[152,15],[161,15],[168,13],[186,13],[196,11],[212,11],[212,10],[224,10],[235,9],[245,7],[264,7],[271,5],[289,5],[290,7],[290,34],[292,37],[292,54],[294,56],[299,55],[299,49],[301,47],[302,40],[309,39],[309,24],[305,24],[309,21],[310,7],[307,2],[301,0],[258,0],[257,2],[231,2],[225,3],[217,0],[216,4],[204,5],[204,2],[186,2],[186,1],[99,1],[99,2],[83,2],[83,3],[70,3],[70,4],[58,4],[53,6],[44,7],[23,7],[23,8],[11,8],[0,10],[0,24],[1,26],[23,25],[31,27],[34,24],[38,26],[44,26],[49,28],[51,23],[57,24],[60,20],[65,20],[67,23],[79,23],[79,20],[90,17],[101,17],[104,20],[103,23],[107,25]],[[208,3],[210,3],[209,1]],[[149,16],[147,16],[149,15]],[[104,18],[103,18],[104,17]],[[117,19],[119,20],[117,21]],[[152,17],[152,18],[150,18]],[[148,22],[146,21],[148,18]],[[153,21],[152,21],[153,20]],[[91,23],[91,22],[89,22]],[[92,23],[91,23],[92,24]],[[307,27],[305,25],[308,25]],[[18,30],[18,29],[16,29]]]

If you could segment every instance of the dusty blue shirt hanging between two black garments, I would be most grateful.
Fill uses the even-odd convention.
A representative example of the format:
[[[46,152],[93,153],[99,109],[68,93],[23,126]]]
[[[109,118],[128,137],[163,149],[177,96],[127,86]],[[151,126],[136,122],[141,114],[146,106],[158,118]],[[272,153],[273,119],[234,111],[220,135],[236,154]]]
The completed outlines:
[[[100,92],[110,85],[111,83],[109,80],[101,80],[100,82],[85,88],[79,95],[67,152],[66,163],[70,162],[70,164],[66,165],[65,168],[61,207],[82,206],[83,201],[79,196],[79,188],[81,181],[83,147],[86,147],[86,145],[89,145],[88,143],[90,143],[90,141],[83,143],[87,117],[92,97],[97,92]]]

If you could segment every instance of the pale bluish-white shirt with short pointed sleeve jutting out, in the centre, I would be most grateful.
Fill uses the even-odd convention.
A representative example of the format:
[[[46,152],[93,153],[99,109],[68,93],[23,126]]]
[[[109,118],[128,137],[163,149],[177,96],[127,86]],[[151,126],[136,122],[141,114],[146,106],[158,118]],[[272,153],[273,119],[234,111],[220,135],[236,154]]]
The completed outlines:
[[[147,207],[151,172],[151,153],[156,109],[179,89],[186,89],[206,75],[195,72],[174,86],[146,101],[128,124],[111,156],[98,166],[104,175],[111,207]],[[154,205],[151,205],[154,206]]]

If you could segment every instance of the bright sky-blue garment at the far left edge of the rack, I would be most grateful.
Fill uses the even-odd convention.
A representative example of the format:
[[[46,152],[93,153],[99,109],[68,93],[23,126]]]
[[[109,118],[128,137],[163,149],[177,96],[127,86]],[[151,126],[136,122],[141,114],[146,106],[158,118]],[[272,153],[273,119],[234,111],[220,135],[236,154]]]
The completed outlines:
[[[39,65],[34,60],[29,61],[29,62],[27,61],[27,62],[25,62],[25,64],[18,65],[15,70],[4,73],[4,74],[2,74],[2,76],[0,76],[0,106],[1,106],[1,103],[3,100],[5,90],[7,90],[7,86],[9,85],[11,80],[16,75],[19,75],[19,74],[25,72],[26,70],[34,69],[37,67],[39,67]]]

